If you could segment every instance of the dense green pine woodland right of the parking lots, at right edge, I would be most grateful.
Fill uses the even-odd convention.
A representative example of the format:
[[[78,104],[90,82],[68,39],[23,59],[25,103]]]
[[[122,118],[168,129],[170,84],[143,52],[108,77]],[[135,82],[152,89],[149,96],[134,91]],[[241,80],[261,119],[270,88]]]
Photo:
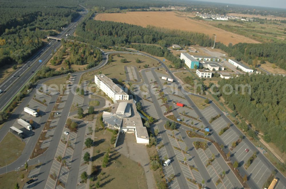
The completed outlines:
[[[242,88],[238,88],[230,95],[223,93],[225,84],[230,84],[235,89],[235,85],[249,84],[251,94],[245,87],[245,94],[241,95]],[[233,79],[223,79],[219,81],[220,95],[224,98],[228,106],[253,125],[259,132],[264,133],[267,142],[273,142],[281,152],[286,151],[286,77],[252,74],[241,75]],[[228,92],[228,87],[227,87]],[[219,96],[220,96],[219,95]],[[239,124],[249,136],[256,137],[255,132],[245,123]]]

